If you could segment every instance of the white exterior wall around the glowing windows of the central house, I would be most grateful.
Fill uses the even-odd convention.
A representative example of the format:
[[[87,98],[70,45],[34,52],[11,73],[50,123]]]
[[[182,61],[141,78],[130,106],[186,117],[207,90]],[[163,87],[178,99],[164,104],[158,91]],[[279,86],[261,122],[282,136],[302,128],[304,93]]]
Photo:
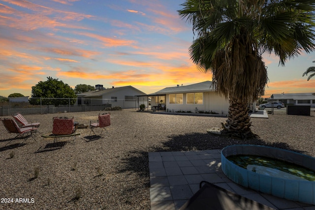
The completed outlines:
[[[177,94],[177,93],[176,93]],[[166,94],[166,111],[176,112],[176,111],[190,111],[195,113],[196,108],[199,111],[213,111],[218,114],[227,115],[228,114],[228,101],[217,94],[216,92],[203,92],[203,104],[187,104],[187,94],[183,93],[183,104],[170,104],[169,94]]]

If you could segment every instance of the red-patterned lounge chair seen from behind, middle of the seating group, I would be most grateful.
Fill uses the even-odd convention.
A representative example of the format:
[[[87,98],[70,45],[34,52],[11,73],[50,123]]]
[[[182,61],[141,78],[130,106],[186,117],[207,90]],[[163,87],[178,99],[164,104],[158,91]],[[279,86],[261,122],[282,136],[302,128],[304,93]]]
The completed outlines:
[[[54,142],[56,141],[58,136],[67,136],[74,134],[75,140],[75,132],[77,130],[77,122],[74,122],[72,118],[66,117],[54,117],[53,118],[53,134],[55,135]]]

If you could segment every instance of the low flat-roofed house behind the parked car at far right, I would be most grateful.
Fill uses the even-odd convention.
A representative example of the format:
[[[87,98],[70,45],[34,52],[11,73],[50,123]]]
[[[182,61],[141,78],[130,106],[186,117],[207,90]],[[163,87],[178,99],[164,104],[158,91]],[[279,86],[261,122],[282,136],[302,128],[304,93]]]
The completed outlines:
[[[315,93],[281,93],[273,94],[274,98],[268,98],[267,101],[280,101],[284,105],[308,105],[315,107]]]

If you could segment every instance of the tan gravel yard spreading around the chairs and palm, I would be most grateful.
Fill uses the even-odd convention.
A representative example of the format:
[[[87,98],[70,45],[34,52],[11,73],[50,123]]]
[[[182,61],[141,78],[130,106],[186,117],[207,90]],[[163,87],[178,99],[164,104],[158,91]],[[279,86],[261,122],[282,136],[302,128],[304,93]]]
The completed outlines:
[[[99,112],[24,115],[39,121],[40,134],[51,133],[53,117],[74,117],[90,124]],[[56,150],[44,149],[53,138],[35,134],[37,143],[8,134],[0,124],[0,209],[150,209],[149,151],[222,149],[233,144],[268,145],[315,157],[315,112],[311,117],[269,114],[269,119],[252,118],[252,131],[260,137],[242,141],[208,134],[225,118],[157,115],[135,110],[111,111],[109,134],[86,142],[90,129],[73,137],[58,138]],[[3,117],[2,117],[3,118]],[[13,157],[12,157],[13,156]],[[36,172],[37,171],[37,172]],[[35,178],[37,177],[37,178]],[[13,203],[2,203],[13,198]],[[29,199],[18,203],[17,198]]]

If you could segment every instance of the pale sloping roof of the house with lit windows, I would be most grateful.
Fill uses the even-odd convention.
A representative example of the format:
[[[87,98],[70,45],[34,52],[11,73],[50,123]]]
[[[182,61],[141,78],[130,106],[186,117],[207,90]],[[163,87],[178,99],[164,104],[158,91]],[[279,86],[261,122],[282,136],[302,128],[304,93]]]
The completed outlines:
[[[169,87],[159,90],[158,92],[152,93],[150,95],[165,95],[171,93],[184,93],[184,92],[206,92],[206,91],[215,91],[211,81],[205,81],[201,83],[196,83],[187,86]]]

